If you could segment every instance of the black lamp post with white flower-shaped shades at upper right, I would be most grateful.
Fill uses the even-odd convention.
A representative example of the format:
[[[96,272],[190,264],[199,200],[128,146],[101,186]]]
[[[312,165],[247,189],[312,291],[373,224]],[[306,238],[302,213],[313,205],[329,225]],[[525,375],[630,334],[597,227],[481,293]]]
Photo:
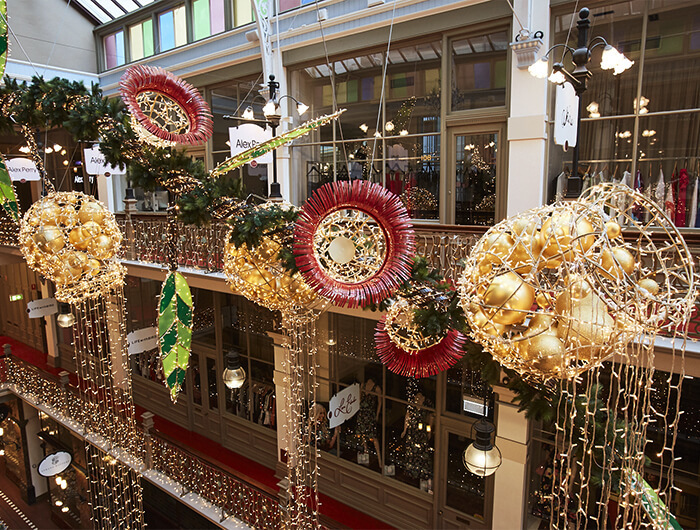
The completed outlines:
[[[578,28],[578,42],[576,49],[566,44],[555,44],[540,60],[536,61],[528,68],[530,73],[535,77],[547,77],[547,72],[549,71],[548,56],[552,50],[556,48],[564,48],[562,59],[568,52],[571,54],[571,60],[574,63],[574,69],[571,72],[567,71],[561,62],[554,63],[552,66],[552,73],[549,76],[549,80],[553,83],[563,84],[567,81],[571,83],[571,86],[573,86],[576,91],[576,95],[579,97],[578,119],[576,120],[576,145],[573,151],[571,177],[568,180],[566,190],[567,198],[576,198],[581,194],[581,177],[578,175],[579,148],[581,145],[581,95],[588,89],[588,81],[593,77],[593,74],[587,68],[593,50],[598,46],[604,46],[600,67],[603,70],[613,70],[615,75],[624,72],[634,64],[633,61],[630,61],[615,49],[615,47],[608,44],[608,41],[603,37],[594,37],[589,42],[588,33],[591,28],[591,21],[588,19],[589,15],[590,10],[587,7],[584,7],[578,13],[578,21],[576,22],[576,27]]]

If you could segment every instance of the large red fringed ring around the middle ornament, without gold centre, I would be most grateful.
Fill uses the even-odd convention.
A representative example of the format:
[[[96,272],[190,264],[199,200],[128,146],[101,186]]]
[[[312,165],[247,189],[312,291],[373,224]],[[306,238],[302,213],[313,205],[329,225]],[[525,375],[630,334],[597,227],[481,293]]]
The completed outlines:
[[[386,254],[381,267],[360,282],[343,282],[326,273],[314,248],[321,222],[340,210],[370,216],[381,229]],[[294,229],[294,257],[306,283],[341,307],[365,307],[391,295],[410,277],[415,253],[413,226],[401,199],[369,181],[331,182],[316,190],[301,209]]]

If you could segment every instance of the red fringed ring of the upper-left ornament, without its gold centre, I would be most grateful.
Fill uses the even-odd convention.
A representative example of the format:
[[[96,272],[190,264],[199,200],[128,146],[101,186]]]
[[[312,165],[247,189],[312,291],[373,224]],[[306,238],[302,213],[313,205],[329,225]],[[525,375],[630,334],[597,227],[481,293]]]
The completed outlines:
[[[209,105],[199,90],[175,74],[157,66],[133,66],[128,68],[119,80],[119,90],[132,116],[149,133],[161,140],[199,145],[211,138],[213,121]],[[187,115],[189,130],[184,133],[172,133],[151,121],[137,100],[137,96],[143,92],[156,92],[177,104]]]

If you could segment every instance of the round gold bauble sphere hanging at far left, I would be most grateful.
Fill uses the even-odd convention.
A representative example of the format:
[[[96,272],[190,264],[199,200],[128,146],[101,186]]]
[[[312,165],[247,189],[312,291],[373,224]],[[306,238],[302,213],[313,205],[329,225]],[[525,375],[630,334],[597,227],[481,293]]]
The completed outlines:
[[[53,192],[20,222],[27,265],[56,284],[56,299],[76,303],[121,284],[126,269],[115,259],[122,241],[114,214],[94,197]]]

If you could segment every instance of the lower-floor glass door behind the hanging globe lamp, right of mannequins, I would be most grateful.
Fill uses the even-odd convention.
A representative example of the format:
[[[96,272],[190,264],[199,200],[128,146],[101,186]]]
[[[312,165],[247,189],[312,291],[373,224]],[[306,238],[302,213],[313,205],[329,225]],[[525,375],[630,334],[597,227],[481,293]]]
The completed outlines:
[[[462,422],[443,418],[441,427],[440,480],[437,486],[438,528],[486,529],[490,524],[490,478],[478,477],[462,462],[464,450],[474,440]]]

